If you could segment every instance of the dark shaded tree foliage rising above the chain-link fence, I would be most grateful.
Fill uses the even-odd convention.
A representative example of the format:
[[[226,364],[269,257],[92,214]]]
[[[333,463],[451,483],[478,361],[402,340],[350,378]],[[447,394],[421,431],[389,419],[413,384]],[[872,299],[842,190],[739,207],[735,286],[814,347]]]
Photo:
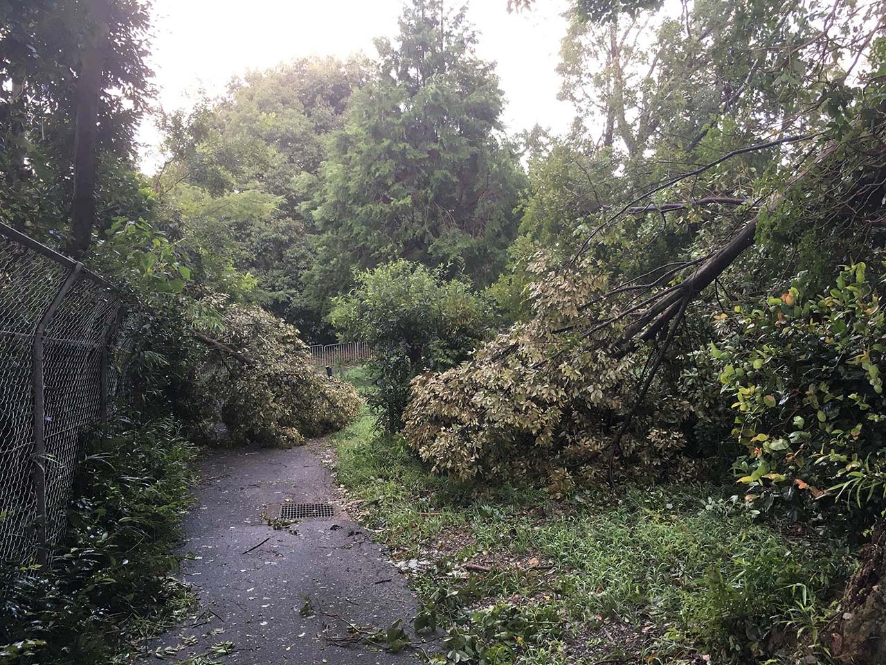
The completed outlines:
[[[56,245],[77,231],[80,252],[150,207],[134,162],[150,3],[4,0],[0,23],[0,220]]]

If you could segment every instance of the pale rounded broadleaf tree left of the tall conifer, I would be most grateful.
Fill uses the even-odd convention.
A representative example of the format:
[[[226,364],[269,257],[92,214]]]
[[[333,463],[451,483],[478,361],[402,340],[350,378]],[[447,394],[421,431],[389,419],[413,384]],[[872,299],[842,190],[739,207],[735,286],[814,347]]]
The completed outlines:
[[[361,59],[299,59],[247,73],[223,97],[162,122],[170,159],[156,188],[176,233],[198,245],[207,270],[227,256],[252,272],[255,296],[312,339],[321,325],[301,275],[314,261],[315,226],[302,206],[367,72]]]

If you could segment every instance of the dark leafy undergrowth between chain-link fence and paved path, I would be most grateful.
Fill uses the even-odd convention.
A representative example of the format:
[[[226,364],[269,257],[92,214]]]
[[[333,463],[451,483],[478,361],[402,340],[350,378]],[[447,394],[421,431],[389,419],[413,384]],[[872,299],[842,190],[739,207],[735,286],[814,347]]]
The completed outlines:
[[[2,571],[0,664],[132,662],[140,638],[187,609],[173,550],[193,457],[167,419],[119,422],[89,444],[51,569]]]

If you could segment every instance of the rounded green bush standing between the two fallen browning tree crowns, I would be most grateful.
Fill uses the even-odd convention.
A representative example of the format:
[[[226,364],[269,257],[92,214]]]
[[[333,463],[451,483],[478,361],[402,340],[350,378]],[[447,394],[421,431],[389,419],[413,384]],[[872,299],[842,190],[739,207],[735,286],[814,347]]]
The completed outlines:
[[[397,261],[357,275],[330,314],[343,340],[369,342],[376,389],[369,403],[388,432],[402,426],[409,380],[463,360],[492,325],[489,304],[470,286],[419,263]]]

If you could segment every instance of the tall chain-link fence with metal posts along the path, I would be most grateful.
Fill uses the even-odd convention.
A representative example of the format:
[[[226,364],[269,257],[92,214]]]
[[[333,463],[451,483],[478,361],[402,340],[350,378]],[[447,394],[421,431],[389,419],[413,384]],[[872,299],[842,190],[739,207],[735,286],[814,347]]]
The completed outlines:
[[[45,562],[64,535],[121,310],[104,279],[0,224],[0,559]]]

